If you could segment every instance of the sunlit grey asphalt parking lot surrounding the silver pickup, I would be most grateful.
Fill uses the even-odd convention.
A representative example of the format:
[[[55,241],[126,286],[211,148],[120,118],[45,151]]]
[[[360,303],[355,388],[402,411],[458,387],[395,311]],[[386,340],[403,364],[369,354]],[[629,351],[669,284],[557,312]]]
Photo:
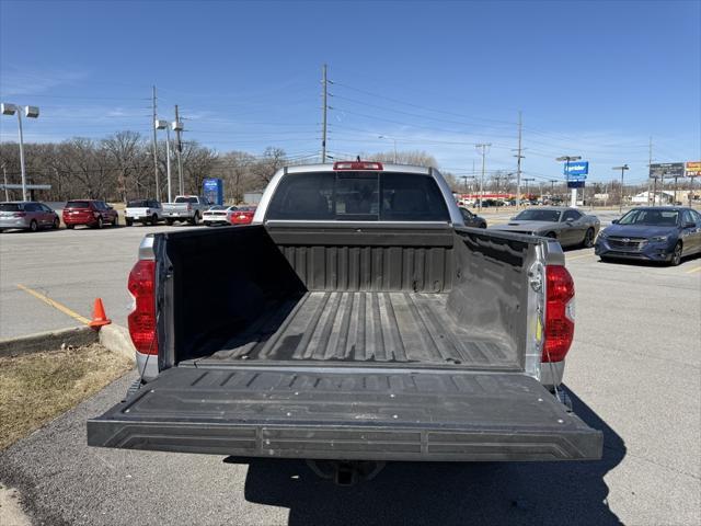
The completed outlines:
[[[0,336],[79,324],[95,297],[125,324],[138,243],[173,228],[192,227],[3,233]],[[303,462],[88,448],[85,420],[120,400],[127,375],[0,454],[0,479],[47,524],[699,524],[701,259],[566,260],[577,325],[565,384],[605,433],[600,461],[390,465],[338,488]]]

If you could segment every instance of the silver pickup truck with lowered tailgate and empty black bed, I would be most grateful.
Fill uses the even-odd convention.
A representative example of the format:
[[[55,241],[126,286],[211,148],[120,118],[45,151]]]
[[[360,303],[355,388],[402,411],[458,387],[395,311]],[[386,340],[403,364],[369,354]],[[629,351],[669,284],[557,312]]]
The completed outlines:
[[[253,224],[143,239],[141,378],[88,443],[301,458],[341,482],[389,460],[599,459],[560,386],[564,261],[556,240],[464,227],[435,169],[283,169]]]

